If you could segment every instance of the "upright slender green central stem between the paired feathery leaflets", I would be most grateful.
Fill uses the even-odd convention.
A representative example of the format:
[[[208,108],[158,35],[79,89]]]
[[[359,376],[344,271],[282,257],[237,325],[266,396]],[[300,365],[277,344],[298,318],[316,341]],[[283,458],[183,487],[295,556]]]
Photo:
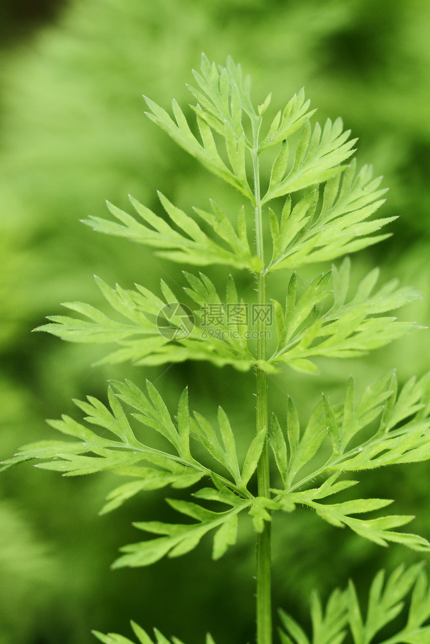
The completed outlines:
[[[255,238],[261,270],[257,281],[258,340],[257,360],[266,360],[266,274],[264,272],[262,208],[260,199],[260,176],[258,159],[259,127],[254,131],[253,170],[255,193]],[[257,433],[268,425],[268,392],[266,372],[257,367]],[[259,497],[270,497],[268,439],[264,443],[257,466]],[[257,537],[257,644],[271,644],[271,561],[270,522],[264,522],[264,529]]]

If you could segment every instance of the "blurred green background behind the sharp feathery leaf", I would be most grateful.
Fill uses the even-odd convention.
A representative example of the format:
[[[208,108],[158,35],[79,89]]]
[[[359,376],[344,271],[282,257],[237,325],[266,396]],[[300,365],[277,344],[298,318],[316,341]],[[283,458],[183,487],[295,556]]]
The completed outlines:
[[[177,149],[144,116],[142,94],[164,108],[190,101],[185,82],[202,50],[227,55],[253,78],[255,102],[273,92],[282,108],[302,86],[318,120],[341,115],[359,137],[358,160],[390,187],[393,238],[353,258],[355,279],[380,265],[423,299],[402,315],[430,321],[430,5],[427,0],[3,0],[0,6],[0,457],[54,435],[44,423],[73,410],[72,397],[106,398],[106,381],[146,377],[173,410],[190,385],[191,407],[208,417],[222,404],[245,448],[253,434],[254,375],[201,363],[162,369],[90,368],[103,348],[30,334],[59,303],[103,307],[92,275],[158,291],[163,270],[126,240],[79,222],[104,199],[128,193],[156,207],[156,189],[184,209],[240,198]],[[190,111],[188,111],[190,114]],[[212,271],[219,284],[223,269]],[[239,277],[239,289],[249,286]],[[273,279],[284,289],[282,276]],[[389,368],[401,381],[429,369],[430,335],[416,332],[355,361],[325,361],[321,375],[286,372],[270,403],[284,419],[288,391],[308,412],[320,391],[340,401]],[[284,391],[282,391],[284,390]],[[360,491],[395,498],[430,536],[430,466],[397,466],[362,477]],[[210,630],[217,644],[253,641],[254,535],[220,562],[205,542],[179,560],[111,572],[117,548],[140,538],[133,520],[162,518],[166,491],[97,516],[113,476],[61,478],[21,466],[0,478],[0,644],[87,644],[90,629],[130,636],[128,620],[187,644]],[[376,494],[375,494],[376,493]],[[168,495],[178,494],[168,492]],[[167,516],[167,515],[166,515]],[[349,576],[365,589],[382,566],[419,560],[323,524],[309,511],[275,520],[274,602],[306,621],[308,596],[326,598]]]

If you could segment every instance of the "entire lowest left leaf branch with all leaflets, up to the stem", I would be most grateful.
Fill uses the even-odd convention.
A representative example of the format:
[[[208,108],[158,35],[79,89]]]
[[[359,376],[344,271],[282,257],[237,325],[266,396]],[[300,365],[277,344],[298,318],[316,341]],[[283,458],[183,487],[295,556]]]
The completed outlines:
[[[44,440],[27,445],[15,457],[6,461],[3,469],[24,460],[42,459],[43,462],[37,467],[61,471],[65,476],[110,470],[132,477],[132,482],[113,489],[101,514],[121,506],[125,500],[141,491],[168,485],[173,488],[188,488],[198,483],[202,477],[210,477],[214,487],[202,488],[194,497],[220,502],[231,509],[213,512],[195,503],[168,499],[173,509],[182,515],[191,516],[198,523],[191,526],[160,522],[135,524],[139,529],[165,536],[124,547],[122,550],[129,554],[119,558],[115,567],[153,564],[167,553],[169,556],[185,554],[212,529],[217,529],[213,541],[213,558],[218,559],[225,553],[228,545],[235,544],[237,515],[244,509],[252,509],[254,525],[256,529],[262,529],[261,517],[269,518],[265,507],[277,507],[277,504],[268,499],[253,497],[246,486],[257,468],[266,431],[255,437],[242,467],[239,467],[234,434],[228,417],[221,408],[218,413],[220,441],[202,415],[195,413],[195,419],[190,419],[187,390],[184,390],[179,401],[175,425],[153,384],[147,383],[146,395],[129,381],[113,383],[113,386],[117,389],[117,394],[110,388],[108,397],[111,410],[92,396],[88,396],[88,402],[75,401],[87,414],[85,421],[104,431],[96,434],[67,416],[63,416],[61,421],[49,421],[55,429],[80,439],[79,442]],[[151,448],[137,439],[119,399],[125,403],[126,410],[133,409],[130,415],[168,440],[171,452]],[[109,433],[115,435],[117,440],[112,440]],[[139,435],[137,432],[136,434]],[[190,437],[210,453],[227,478],[192,457]]]

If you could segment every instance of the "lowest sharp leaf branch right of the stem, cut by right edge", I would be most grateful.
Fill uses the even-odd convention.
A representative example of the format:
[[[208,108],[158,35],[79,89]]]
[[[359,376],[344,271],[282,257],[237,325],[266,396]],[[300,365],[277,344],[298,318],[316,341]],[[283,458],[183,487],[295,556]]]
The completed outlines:
[[[428,550],[430,544],[424,538],[391,530],[411,521],[413,516],[382,516],[370,520],[351,516],[380,509],[390,504],[390,500],[369,498],[335,504],[321,503],[320,500],[357,483],[353,480],[338,481],[344,471],[429,459],[430,439],[426,433],[429,427],[430,374],[418,383],[411,379],[398,395],[396,375],[386,374],[369,385],[358,402],[355,401],[351,378],[345,403],[333,408],[323,396],[322,403],[302,433],[297,408],[290,398],[286,431],[288,446],[276,417],[273,417],[271,427],[271,445],[285,486],[284,490],[274,490],[278,494],[276,500],[286,511],[293,510],[295,504],[311,507],[334,526],[348,526],[358,535],[380,545],[394,541],[416,550]],[[359,439],[361,430],[367,430],[366,439]],[[331,453],[327,455],[326,462],[310,468],[310,472],[308,466],[306,475],[303,475],[302,468],[323,445],[326,447],[324,439],[327,438]],[[320,475],[329,478],[318,488],[303,489]]]

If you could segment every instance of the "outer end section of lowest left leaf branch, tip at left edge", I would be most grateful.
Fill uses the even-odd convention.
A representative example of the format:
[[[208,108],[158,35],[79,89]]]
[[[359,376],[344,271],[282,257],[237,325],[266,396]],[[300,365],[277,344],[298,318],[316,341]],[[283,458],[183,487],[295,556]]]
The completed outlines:
[[[113,393],[113,388],[117,390],[116,394]],[[119,507],[140,491],[168,485],[175,488],[189,487],[204,475],[210,475],[210,469],[191,457],[189,435],[184,430],[189,422],[186,390],[179,403],[177,426],[161,396],[149,382],[146,394],[130,381],[113,382],[108,399],[110,410],[92,396],[88,396],[86,401],[74,401],[86,413],[85,421],[103,431],[95,433],[68,416],[63,416],[61,421],[48,421],[55,429],[80,442],[47,440],[26,445],[12,459],[6,460],[3,468],[24,460],[39,459],[39,467],[61,471],[66,476],[109,470],[135,478],[136,480],[113,489],[101,513]],[[120,400],[126,404],[125,411]],[[135,412],[131,413],[130,409]],[[151,448],[137,439],[138,434],[132,430],[130,417],[139,419],[161,434],[170,443],[172,451]],[[111,438],[112,435],[115,440]]]

